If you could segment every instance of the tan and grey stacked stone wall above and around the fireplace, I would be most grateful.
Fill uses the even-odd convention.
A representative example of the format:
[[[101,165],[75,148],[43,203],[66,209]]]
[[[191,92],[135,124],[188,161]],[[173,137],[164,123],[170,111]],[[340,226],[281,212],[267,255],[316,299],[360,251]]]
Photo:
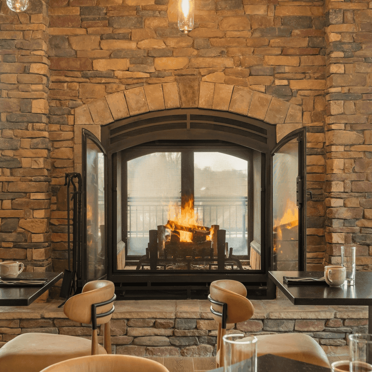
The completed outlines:
[[[356,244],[358,269],[370,269],[371,3],[198,0],[195,7],[195,29],[183,35],[175,0],[33,0],[19,15],[1,2],[1,260],[22,261],[28,271],[66,268],[62,185],[65,173],[80,170],[81,127],[99,135],[120,115],[177,107],[167,106],[173,95],[181,108],[276,124],[278,138],[306,126],[314,195],[308,268],[338,263],[340,245]],[[164,107],[148,98],[160,92]],[[110,100],[121,100],[121,110],[125,102],[128,114]],[[254,116],[266,103],[265,115]],[[102,106],[109,115],[99,122]],[[301,120],[287,121],[291,108]]]

